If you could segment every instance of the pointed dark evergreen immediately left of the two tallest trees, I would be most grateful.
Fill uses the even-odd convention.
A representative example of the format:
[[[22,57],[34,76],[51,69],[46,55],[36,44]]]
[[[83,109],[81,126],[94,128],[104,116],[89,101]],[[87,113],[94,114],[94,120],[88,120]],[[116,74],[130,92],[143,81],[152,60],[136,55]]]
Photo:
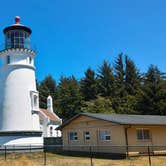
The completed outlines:
[[[113,96],[115,92],[115,78],[112,68],[107,61],[104,61],[98,70],[98,88],[103,97]]]

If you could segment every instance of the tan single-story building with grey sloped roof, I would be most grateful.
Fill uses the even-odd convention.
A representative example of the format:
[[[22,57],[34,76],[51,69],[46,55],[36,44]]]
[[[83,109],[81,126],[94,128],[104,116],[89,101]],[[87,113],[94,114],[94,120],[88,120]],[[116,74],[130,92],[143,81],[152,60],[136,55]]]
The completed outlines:
[[[60,129],[67,150],[129,153],[166,146],[166,116],[80,113]]]

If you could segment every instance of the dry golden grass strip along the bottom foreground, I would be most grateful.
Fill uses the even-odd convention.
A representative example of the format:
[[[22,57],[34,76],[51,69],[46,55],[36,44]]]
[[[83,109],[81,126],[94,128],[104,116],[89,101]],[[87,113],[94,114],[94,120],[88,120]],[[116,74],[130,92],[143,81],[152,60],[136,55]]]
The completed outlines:
[[[148,156],[123,160],[92,159],[93,166],[148,166]],[[165,166],[166,157],[151,157],[152,165]],[[42,154],[24,154],[0,161],[0,166],[43,166]],[[47,166],[91,166],[90,158],[47,154]]]

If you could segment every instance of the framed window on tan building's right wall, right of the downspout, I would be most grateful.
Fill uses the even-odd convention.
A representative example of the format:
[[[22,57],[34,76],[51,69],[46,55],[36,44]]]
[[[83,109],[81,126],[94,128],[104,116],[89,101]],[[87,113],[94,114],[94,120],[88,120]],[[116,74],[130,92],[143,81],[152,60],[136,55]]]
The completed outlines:
[[[145,133],[147,131],[148,131],[148,134]],[[140,132],[140,133],[138,133],[138,132]],[[148,138],[146,138],[147,136],[148,136]],[[137,128],[136,129],[136,137],[137,137],[137,141],[151,141],[152,136],[151,136],[151,132],[148,128]]]

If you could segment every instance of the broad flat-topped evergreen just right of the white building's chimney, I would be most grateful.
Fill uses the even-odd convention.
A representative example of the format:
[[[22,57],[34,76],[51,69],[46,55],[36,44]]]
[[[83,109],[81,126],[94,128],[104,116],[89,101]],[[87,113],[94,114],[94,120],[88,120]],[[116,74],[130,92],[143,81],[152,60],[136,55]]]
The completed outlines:
[[[74,76],[61,77],[58,85],[58,113],[63,120],[69,119],[81,110],[82,96]]]

